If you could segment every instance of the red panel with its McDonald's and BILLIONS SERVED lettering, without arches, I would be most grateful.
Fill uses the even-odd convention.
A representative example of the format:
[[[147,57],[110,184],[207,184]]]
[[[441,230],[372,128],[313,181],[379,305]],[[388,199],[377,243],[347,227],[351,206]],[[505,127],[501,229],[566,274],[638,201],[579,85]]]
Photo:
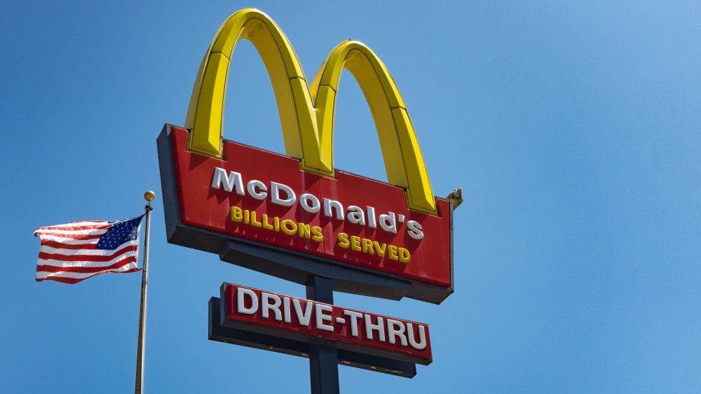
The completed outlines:
[[[450,206],[407,209],[404,189],[224,141],[222,159],[190,153],[170,127],[184,225],[451,288]]]

